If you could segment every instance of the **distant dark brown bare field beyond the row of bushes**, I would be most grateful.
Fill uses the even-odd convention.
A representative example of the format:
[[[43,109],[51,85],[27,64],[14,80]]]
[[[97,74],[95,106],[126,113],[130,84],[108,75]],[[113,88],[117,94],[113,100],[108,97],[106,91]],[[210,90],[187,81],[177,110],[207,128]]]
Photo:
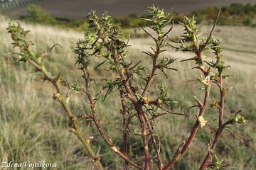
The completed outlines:
[[[131,13],[142,15],[147,6],[156,4],[166,12],[189,13],[208,6],[229,6],[230,4],[256,4],[255,0],[1,0],[0,8],[8,16],[19,17],[26,14],[28,4],[38,3],[47,13],[60,18],[77,18],[85,16],[92,9],[102,14],[109,11],[112,16],[127,16]]]

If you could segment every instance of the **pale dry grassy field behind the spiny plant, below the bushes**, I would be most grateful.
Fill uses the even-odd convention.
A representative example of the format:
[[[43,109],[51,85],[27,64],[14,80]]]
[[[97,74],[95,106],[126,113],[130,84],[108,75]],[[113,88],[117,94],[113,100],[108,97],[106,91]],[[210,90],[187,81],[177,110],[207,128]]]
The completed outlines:
[[[7,21],[1,18],[0,23],[0,162],[13,160],[14,162],[24,162],[30,160],[46,162],[57,162],[57,169],[93,169],[90,157],[84,152],[80,142],[68,130],[65,130],[65,117],[63,109],[56,101],[53,101],[53,89],[50,84],[42,83],[35,74],[27,74],[31,67],[26,64],[17,63],[11,58],[11,52],[15,52],[11,47],[11,38],[6,33]],[[53,73],[58,70],[63,75],[75,81],[74,77],[79,77],[80,72],[74,67],[75,55],[73,49],[75,42],[82,33],[68,30],[57,30],[46,26],[28,25],[22,23],[24,28],[31,30],[30,38],[35,42],[36,51],[48,51],[50,47],[59,43],[63,48],[56,47],[46,58],[47,65]],[[203,33],[207,33],[210,27],[203,28]],[[134,30],[127,30],[134,33]],[[176,26],[171,32],[171,38],[176,38],[183,32],[180,26]],[[137,33],[142,30],[137,29]],[[224,57],[231,65],[230,74],[235,75],[229,79],[228,85],[233,86],[233,90],[226,101],[225,119],[232,117],[239,109],[243,109],[246,118],[249,120],[246,125],[236,125],[233,127],[234,134],[244,140],[241,142],[230,135],[223,133],[218,145],[217,152],[225,163],[230,164],[228,169],[253,170],[256,169],[256,50],[255,28],[250,27],[228,27],[218,26],[215,30],[216,36],[223,42]],[[142,60],[142,63],[149,65],[148,58],[142,51],[149,50],[153,42],[149,38],[132,38],[129,41],[130,60]],[[184,55],[175,52],[171,48],[166,52],[166,57],[176,57],[178,61],[193,57],[191,54]],[[208,54],[210,55],[210,54]],[[97,62],[97,61],[95,61]],[[175,68],[178,73],[171,72],[171,79],[159,79],[164,84],[171,87],[170,95],[176,98],[178,106],[174,108],[176,112],[183,112],[189,106],[193,106],[193,96],[200,98],[200,86],[188,80],[195,79],[196,72],[192,71],[193,62],[182,64],[176,62]],[[100,73],[95,71],[95,75]],[[104,74],[104,73],[103,73]],[[95,77],[97,79],[97,77]],[[215,91],[213,90],[213,94]],[[80,96],[82,98],[82,96]],[[84,108],[85,101],[73,98],[71,108],[76,113],[80,113]],[[121,144],[121,136],[117,132],[121,130],[119,125],[119,105],[116,99],[109,96],[105,103],[100,104],[98,113],[104,130],[112,137],[115,143]],[[187,136],[193,126],[196,117],[190,111],[189,118],[181,118],[173,115],[164,115],[159,119],[156,132],[161,138],[162,153],[164,162],[175,152],[176,147],[182,141],[183,135]],[[210,109],[206,113],[206,119],[211,120],[217,114]],[[114,120],[114,122],[113,122]],[[164,125],[164,126],[163,126]],[[102,162],[108,169],[122,169],[122,161],[109,152],[109,148],[100,139],[93,128],[89,128],[87,123],[81,123],[82,130],[87,136],[93,136],[92,144],[95,144],[95,151],[99,151]],[[193,145],[185,157],[181,159],[174,169],[198,169],[198,164],[207,152],[206,141],[208,141],[209,130],[200,129],[193,140]],[[134,140],[133,147],[139,145],[139,140]],[[101,146],[101,147],[98,147]],[[133,153],[134,159],[141,159],[142,153]],[[196,155],[196,157],[195,157]],[[228,156],[227,156],[228,155]]]

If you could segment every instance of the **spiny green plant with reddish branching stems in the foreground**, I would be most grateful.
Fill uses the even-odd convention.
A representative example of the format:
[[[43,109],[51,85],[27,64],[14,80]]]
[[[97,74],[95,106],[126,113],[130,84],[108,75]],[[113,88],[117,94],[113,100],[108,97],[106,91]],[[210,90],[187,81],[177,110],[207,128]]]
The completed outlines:
[[[223,161],[219,160],[215,153],[220,135],[223,130],[231,132],[231,125],[245,123],[246,120],[240,115],[241,111],[235,113],[229,120],[223,119],[225,97],[229,90],[224,82],[230,75],[226,73],[226,69],[229,66],[223,60],[220,41],[213,36],[213,30],[220,13],[218,13],[213,28],[206,38],[201,38],[201,27],[196,25],[194,18],[184,16],[183,21],[180,23],[184,28],[184,33],[178,42],[174,42],[169,38],[169,33],[174,27],[170,14],[165,14],[163,10],[155,6],[149,7],[148,13],[149,16],[142,18],[142,21],[153,33],[150,33],[144,27],[141,28],[154,40],[155,45],[150,47],[151,51],[143,52],[146,56],[149,56],[151,68],[144,67],[141,61],[129,61],[128,42],[122,39],[123,31],[114,27],[112,18],[108,13],[104,13],[101,18],[96,15],[95,11],[87,15],[88,28],[85,30],[85,37],[83,40],[78,40],[74,50],[77,55],[75,65],[81,70],[83,83],[80,81],[70,83],[70,81],[66,81],[61,76],[61,73],[53,76],[45,65],[45,52],[38,53],[32,50],[33,43],[27,38],[29,31],[23,30],[19,23],[10,22],[7,30],[14,40],[14,47],[19,48],[17,60],[31,64],[34,68],[33,72],[38,72],[43,81],[49,81],[55,87],[53,98],[63,106],[69,118],[66,127],[78,137],[78,140],[87,150],[87,154],[92,157],[92,162],[97,169],[102,170],[105,168],[100,157],[92,149],[90,137],[82,135],[82,128],[80,128],[82,123],[79,121],[81,119],[90,120],[95,124],[102,140],[110,147],[110,150],[124,160],[125,170],[129,169],[130,166],[141,170],[171,169],[186,154],[199,127],[209,127],[212,132],[208,136],[209,142],[208,148],[206,148],[206,157],[203,159],[199,169],[224,169],[226,165],[222,164]],[[171,28],[166,30],[165,28],[170,24]],[[173,43],[177,45],[173,45]],[[159,135],[156,135],[157,132],[154,129],[156,119],[166,113],[177,116],[190,116],[186,112],[174,113],[171,111],[171,107],[177,104],[177,101],[169,96],[170,88],[164,86],[161,82],[154,81],[154,77],[158,75],[159,77],[166,77],[171,83],[167,72],[177,71],[172,66],[176,59],[164,57],[163,55],[169,47],[173,47],[177,51],[193,53],[194,57],[181,60],[181,62],[191,60],[195,62],[193,69],[198,69],[201,72],[201,74],[198,74],[196,81],[201,84],[204,96],[203,101],[194,96],[196,105],[191,106],[191,108],[197,107],[198,113],[196,114],[191,134],[178,146],[176,153],[173,154],[174,157],[169,162],[163,162],[161,159],[161,139],[159,139]],[[206,51],[212,51],[215,59],[210,60],[209,57],[206,57]],[[92,61],[95,57],[100,58],[102,61],[94,68]],[[107,78],[103,75],[101,75],[102,77],[93,77],[93,69],[104,70],[105,74],[110,76]],[[213,103],[210,105],[218,111],[217,125],[206,120],[203,115],[208,106],[210,89],[213,84],[218,87],[220,94],[218,97],[213,97]],[[95,92],[96,85],[102,86],[100,91]],[[153,92],[151,92],[152,89]],[[122,123],[122,147],[116,145],[112,137],[102,129],[97,113],[97,103],[104,103],[104,101],[108,100],[112,91],[115,91],[114,95],[119,98],[119,112],[122,115],[119,118]],[[70,108],[72,93],[84,94],[87,97],[90,111],[75,115]],[[129,156],[132,148],[128,146],[129,142],[132,142],[130,139],[133,136],[141,138],[144,155],[143,162],[136,162]]]

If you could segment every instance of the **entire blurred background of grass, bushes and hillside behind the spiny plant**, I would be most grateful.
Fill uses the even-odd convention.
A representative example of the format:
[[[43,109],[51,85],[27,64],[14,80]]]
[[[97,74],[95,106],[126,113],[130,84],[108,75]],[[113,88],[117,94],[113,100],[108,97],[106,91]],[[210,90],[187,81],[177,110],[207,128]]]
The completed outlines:
[[[63,109],[52,96],[54,89],[48,83],[42,83],[36,74],[28,74],[31,67],[18,63],[13,56],[16,50],[11,45],[10,35],[6,33],[8,21],[18,21],[26,30],[31,30],[29,38],[35,43],[33,50],[48,52],[46,65],[53,74],[63,73],[70,81],[80,81],[80,72],[74,66],[76,56],[73,52],[76,42],[83,38],[83,30],[87,28],[85,16],[91,10],[100,16],[104,11],[112,15],[115,26],[124,29],[124,39],[130,37],[129,60],[142,60],[145,66],[151,64],[142,51],[150,50],[154,41],[138,26],[144,26],[140,18],[146,17],[147,6],[159,6],[174,17],[174,29],[169,33],[171,40],[179,40],[183,28],[178,24],[183,16],[195,16],[201,32],[206,37],[221,8],[220,18],[215,28],[215,36],[223,47],[223,57],[230,64],[230,77],[227,86],[233,86],[225,103],[225,120],[233,117],[233,113],[242,109],[248,122],[245,125],[230,127],[230,132],[223,132],[216,153],[227,169],[256,169],[256,1],[250,0],[160,0],[160,1],[82,1],[82,0],[0,0],[0,162],[57,162],[57,169],[93,169],[90,157],[76,137],[65,130]],[[166,30],[169,28],[168,26]],[[147,28],[146,28],[147,29]],[[149,29],[147,29],[149,30]],[[149,30],[150,31],[150,30]],[[62,46],[50,50],[55,43]],[[174,44],[175,45],[175,44]],[[202,97],[201,86],[188,82],[195,79],[198,72],[191,71],[193,62],[181,64],[190,53],[176,52],[171,47],[164,57],[177,59],[174,67],[177,73],[170,72],[170,79],[156,78],[166,86],[170,86],[170,96],[178,101],[174,112],[184,112],[193,106],[193,96]],[[206,53],[210,59],[213,54]],[[95,65],[100,60],[95,60]],[[100,79],[104,72],[93,71],[95,79]],[[97,89],[97,87],[95,87]],[[122,124],[119,123],[119,104],[113,96],[98,105],[97,111],[103,129],[112,137],[114,143],[122,148]],[[215,88],[210,94],[218,96]],[[77,96],[70,102],[75,113],[87,111],[83,96]],[[213,120],[217,112],[210,108],[206,111],[206,120]],[[173,157],[176,148],[188,136],[196,117],[196,108],[190,111],[189,118],[164,115],[157,120],[155,131],[161,139],[161,154],[164,163]],[[216,126],[215,121],[210,121]],[[110,152],[95,130],[95,127],[81,123],[86,136],[93,136],[92,145],[99,152],[102,163],[107,169],[122,169],[123,162]],[[90,128],[89,128],[90,127]],[[198,169],[207,153],[207,142],[210,129],[198,130],[190,150],[173,169]],[[139,137],[129,137],[132,145],[130,157],[138,161],[143,159],[143,151]],[[100,146],[100,147],[99,147]],[[196,155],[196,157],[195,157]],[[1,169],[1,168],[0,168]]]

